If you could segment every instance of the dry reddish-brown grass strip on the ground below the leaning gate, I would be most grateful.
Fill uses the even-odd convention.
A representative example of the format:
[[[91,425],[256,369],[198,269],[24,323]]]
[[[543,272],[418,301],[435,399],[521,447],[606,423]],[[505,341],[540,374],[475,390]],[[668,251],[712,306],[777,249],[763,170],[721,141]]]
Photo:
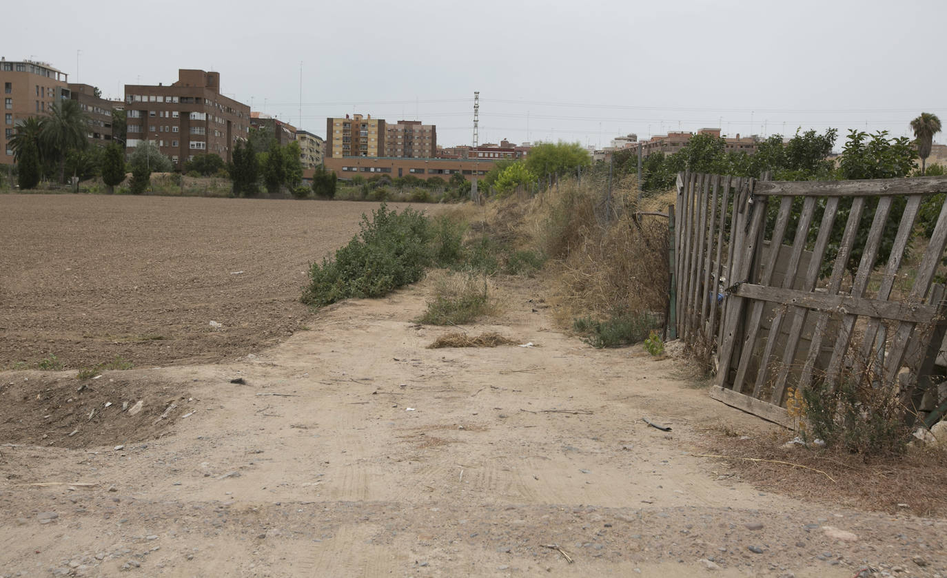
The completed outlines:
[[[947,452],[908,447],[902,456],[866,457],[844,450],[786,448],[785,432],[750,435],[741,439],[732,429],[710,430],[704,436],[706,453],[730,458],[777,460],[818,469],[834,483],[811,469],[785,464],[724,460],[724,467],[760,490],[795,499],[845,505],[888,513],[922,517],[947,515]],[[901,504],[907,504],[906,506]]]

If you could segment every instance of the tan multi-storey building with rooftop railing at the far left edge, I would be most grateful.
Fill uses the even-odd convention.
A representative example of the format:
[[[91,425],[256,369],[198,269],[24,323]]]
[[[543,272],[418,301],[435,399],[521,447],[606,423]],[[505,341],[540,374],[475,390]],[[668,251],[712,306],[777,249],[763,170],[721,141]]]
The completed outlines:
[[[19,121],[48,113],[53,102],[69,98],[68,75],[46,62],[8,61],[0,58],[3,85],[3,132],[0,132],[0,165],[13,164],[9,139]]]

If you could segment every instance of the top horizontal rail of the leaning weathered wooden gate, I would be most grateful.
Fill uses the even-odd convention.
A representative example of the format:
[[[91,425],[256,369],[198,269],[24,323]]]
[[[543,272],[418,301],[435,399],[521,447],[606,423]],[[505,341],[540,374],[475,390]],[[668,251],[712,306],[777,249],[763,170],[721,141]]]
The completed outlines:
[[[767,181],[757,184],[754,194],[793,197],[880,197],[925,195],[947,192],[947,177],[871,179],[854,181]]]

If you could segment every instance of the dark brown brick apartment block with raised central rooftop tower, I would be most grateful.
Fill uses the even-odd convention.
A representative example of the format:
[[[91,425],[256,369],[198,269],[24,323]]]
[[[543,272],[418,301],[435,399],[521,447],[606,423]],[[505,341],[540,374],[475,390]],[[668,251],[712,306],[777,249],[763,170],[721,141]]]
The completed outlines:
[[[250,131],[250,107],[221,94],[218,72],[180,69],[168,86],[126,84],[125,111],[128,148],[152,141],[177,166],[203,152],[230,161]]]

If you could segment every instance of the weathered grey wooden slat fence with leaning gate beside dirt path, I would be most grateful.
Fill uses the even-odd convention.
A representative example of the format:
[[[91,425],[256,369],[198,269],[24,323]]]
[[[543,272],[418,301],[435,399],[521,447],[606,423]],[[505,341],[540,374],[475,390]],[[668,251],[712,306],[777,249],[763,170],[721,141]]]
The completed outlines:
[[[921,202],[944,191],[944,177],[678,175],[676,328],[712,353],[711,395],[788,426],[790,387],[834,385],[856,371],[900,384],[902,401],[917,404],[910,395],[943,338],[944,290],[933,280],[947,245],[947,203],[920,262],[908,270],[904,260]]]

